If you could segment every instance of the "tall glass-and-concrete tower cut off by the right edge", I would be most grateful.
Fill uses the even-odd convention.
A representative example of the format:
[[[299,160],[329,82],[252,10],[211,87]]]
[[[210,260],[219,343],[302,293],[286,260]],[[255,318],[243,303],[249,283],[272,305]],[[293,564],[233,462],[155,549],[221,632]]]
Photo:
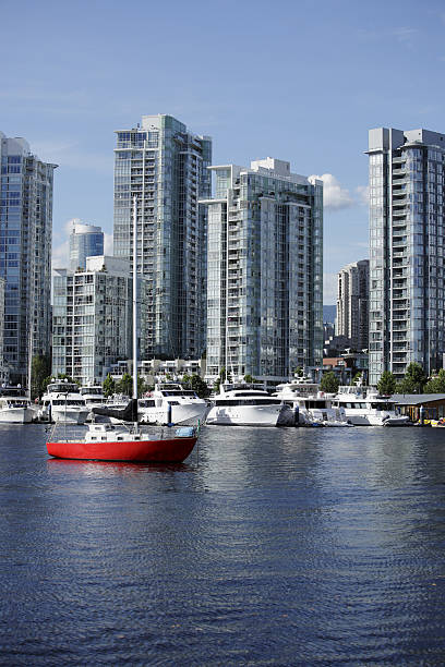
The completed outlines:
[[[370,384],[417,362],[442,367],[445,134],[369,133]]]

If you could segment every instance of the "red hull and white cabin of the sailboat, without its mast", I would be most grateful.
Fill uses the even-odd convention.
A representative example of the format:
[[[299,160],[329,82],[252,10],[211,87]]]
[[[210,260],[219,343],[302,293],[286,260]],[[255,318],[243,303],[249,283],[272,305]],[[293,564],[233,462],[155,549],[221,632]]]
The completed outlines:
[[[47,442],[48,453],[58,459],[182,463],[197,440],[193,427],[171,428],[171,436],[147,436],[127,426],[91,424],[85,438]]]

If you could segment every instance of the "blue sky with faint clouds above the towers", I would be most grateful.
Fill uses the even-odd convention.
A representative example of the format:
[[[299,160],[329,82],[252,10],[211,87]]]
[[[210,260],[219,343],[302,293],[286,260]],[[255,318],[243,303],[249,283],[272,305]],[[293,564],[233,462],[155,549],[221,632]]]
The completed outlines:
[[[0,0],[0,131],[56,162],[53,256],[73,218],[112,234],[115,130],[170,113],[214,163],[324,175],[325,295],[368,257],[368,130],[443,132],[445,2]]]

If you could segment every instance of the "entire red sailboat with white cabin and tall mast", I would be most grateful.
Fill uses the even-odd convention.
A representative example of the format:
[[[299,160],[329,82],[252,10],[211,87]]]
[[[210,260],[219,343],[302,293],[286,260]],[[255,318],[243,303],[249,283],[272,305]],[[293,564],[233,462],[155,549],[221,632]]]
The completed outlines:
[[[121,419],[118,426],[93,422],[84,438],[77,440],[50,439],[47,450],[59,459],[94,461],[131,461],[145,463],[182,463],[197,440],[199,427],[167,427],[165,437],[141,433],[137,426],[137,338],[136,338],[136,199],[133,201],[133,399],[125,410],[94,408],[93,412]]]

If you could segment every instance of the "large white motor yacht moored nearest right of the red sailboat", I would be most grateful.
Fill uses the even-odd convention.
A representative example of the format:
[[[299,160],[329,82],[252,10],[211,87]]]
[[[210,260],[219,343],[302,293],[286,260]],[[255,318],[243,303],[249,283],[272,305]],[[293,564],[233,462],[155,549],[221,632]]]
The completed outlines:
[[[212,399],[206,424],[225,426],[277,426],[281,400],[252,385],[220,385]]]

